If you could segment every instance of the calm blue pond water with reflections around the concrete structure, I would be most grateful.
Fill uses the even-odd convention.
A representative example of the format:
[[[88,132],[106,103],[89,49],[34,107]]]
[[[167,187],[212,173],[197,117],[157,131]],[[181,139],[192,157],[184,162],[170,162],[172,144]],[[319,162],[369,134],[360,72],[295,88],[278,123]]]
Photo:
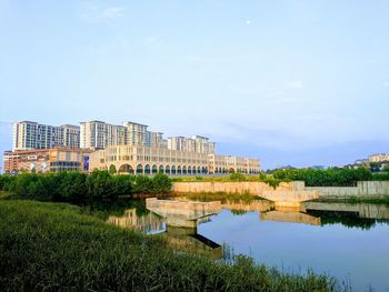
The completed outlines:
[[[329,273],[351,283],[353,291],[367,291],[370,285],[373,291],[389,291],[387,205],[305,203],[300,210],[275,210],[269,202],[225,202],[197,229],[180,229],[167,226],[144,203],[130,202],[108,222],[161,233],[172,248],[186,252],[215,259],[231,252],[247,254],[287,272],[311,268]]]

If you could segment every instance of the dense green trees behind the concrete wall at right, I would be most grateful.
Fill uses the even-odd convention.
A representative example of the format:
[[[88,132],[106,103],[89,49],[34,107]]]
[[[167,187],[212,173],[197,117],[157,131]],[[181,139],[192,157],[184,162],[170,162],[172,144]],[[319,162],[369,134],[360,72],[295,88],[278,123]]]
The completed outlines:
[[[368,169],[288,169],[272,172],[281,181],[305,181],[307,187],[353,187],[357,181],[370,181],[375,177]]]

